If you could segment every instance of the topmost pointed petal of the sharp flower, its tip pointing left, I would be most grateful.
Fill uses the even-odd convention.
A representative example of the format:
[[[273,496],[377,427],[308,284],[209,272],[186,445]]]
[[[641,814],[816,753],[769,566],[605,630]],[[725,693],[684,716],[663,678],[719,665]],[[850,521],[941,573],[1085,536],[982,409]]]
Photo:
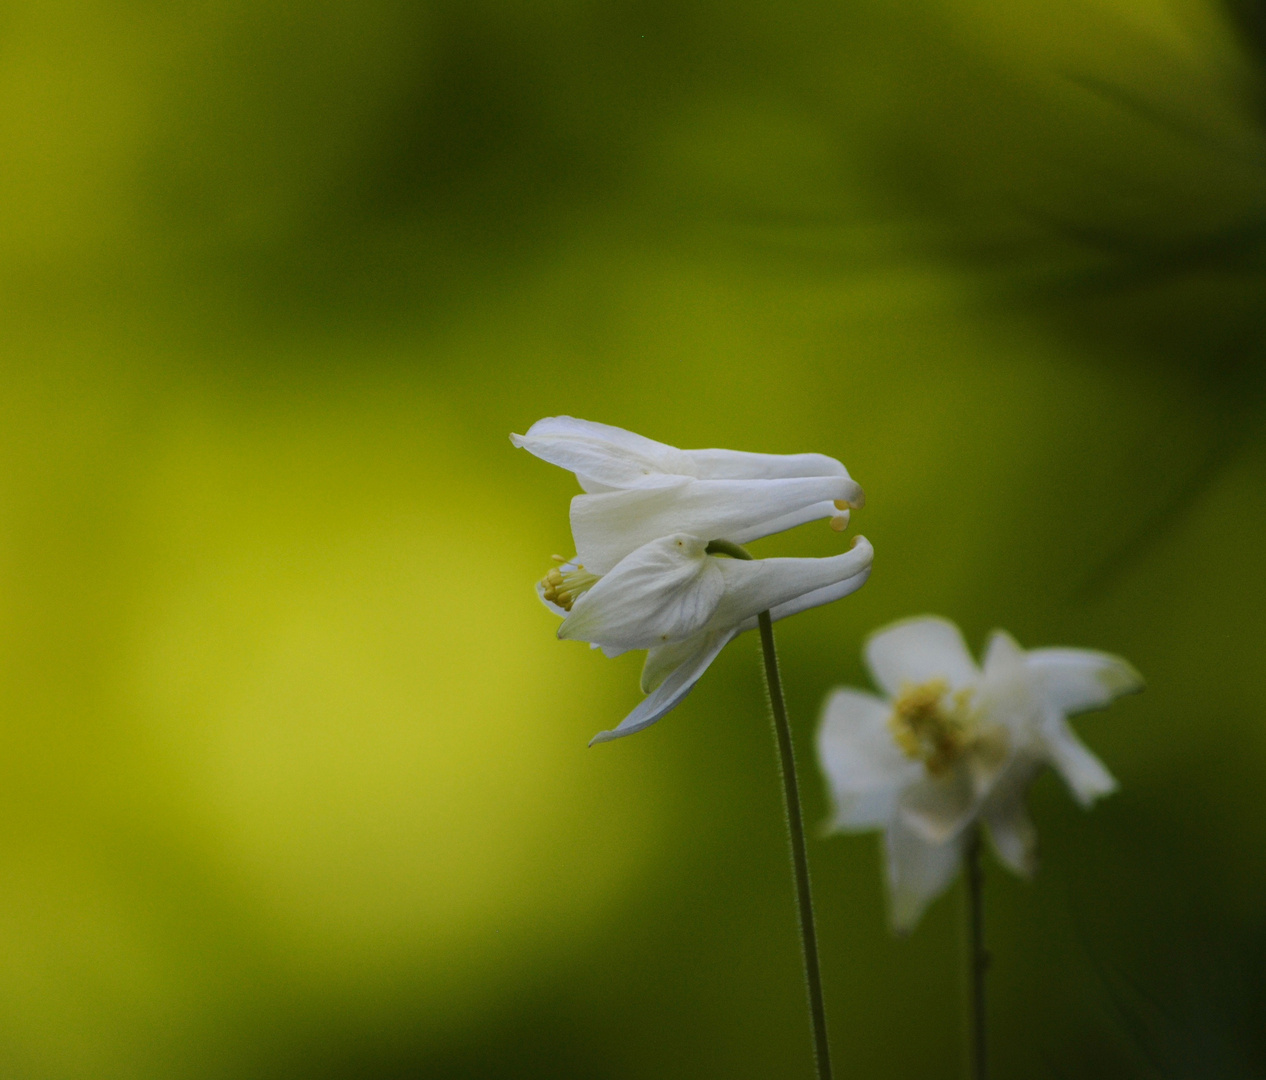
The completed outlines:
[[[575,472],[586,491],[653,484],[665,474],[693,467],[675,447],[573,417],[537,420],[525,436],[510,436],[510,442]]]

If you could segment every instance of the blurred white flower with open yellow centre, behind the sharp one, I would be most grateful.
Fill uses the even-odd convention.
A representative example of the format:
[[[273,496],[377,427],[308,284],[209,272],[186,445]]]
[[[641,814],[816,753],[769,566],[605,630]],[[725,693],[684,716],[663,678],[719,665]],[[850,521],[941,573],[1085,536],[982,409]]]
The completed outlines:
[[[977,820],[1008,867],[1034,871],[1025,795],[1046,765],[1084,807],[1115,790],[1067,717],[1142,690],[1124,660],[1074,648],[1025,652],[995,631],[981,669],[958,628],[931,615],[876,632],[865,658],[886,696],[832,693],[818,756],[834,800],[829,828],[884,829],[896,931],[913,928],[948,888]]]

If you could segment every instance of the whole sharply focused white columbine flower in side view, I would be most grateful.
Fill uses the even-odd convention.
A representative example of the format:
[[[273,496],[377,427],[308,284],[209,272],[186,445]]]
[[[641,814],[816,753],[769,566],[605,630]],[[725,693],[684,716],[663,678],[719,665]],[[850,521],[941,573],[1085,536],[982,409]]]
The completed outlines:
[[[608,656],[647,650],[648,696],[592,742],[639,732],[676,708],[761,612],[794,615],[847,596],[870,575],[874,551],[863,537],[829,558],[744,562],[708,551],[819,518],[843,529],[865,496],[832,457],[677,449],[571,417],[510,438],[575,472],[586,493],[571,500],[575,558],[537,586],[563,617],[558,637]]]

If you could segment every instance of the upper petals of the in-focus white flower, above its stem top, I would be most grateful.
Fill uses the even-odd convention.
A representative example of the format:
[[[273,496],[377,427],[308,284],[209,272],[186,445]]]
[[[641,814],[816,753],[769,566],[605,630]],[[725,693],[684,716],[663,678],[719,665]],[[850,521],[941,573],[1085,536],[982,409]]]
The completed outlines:
[[[743,544],[818,518],[841,531],[865,503],[844,466],[820,453],[677,449],[572,417],[510,439],[576,474],[586,491],[571,500],[576,562],[598,575],[672,533]]]

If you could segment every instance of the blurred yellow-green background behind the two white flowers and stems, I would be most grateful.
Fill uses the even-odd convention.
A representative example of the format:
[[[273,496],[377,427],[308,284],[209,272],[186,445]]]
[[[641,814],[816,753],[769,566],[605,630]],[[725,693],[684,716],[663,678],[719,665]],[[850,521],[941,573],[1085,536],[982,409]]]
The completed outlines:
[[[0,1074],[808,1077],[751,636],[636,738],[557,413],[822,451],[780,628],[1119,652],[990,869],[996,1075],[1266,1075],[1266,19],[1213,0],[0,5]],[[762,553],[828,553],[824,525]],[[962,1075],[961,898],[810,842],[841,1076]]]

